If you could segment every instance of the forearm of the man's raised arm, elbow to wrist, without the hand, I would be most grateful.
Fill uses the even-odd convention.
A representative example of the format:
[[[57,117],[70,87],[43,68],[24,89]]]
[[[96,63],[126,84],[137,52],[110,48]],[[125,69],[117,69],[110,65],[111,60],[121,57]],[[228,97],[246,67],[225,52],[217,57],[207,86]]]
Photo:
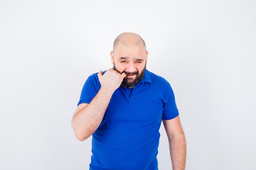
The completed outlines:
[[[76,111],[72,119],[72,127],[77,139],[83,141],[97,130],[112,94],[109,90],[100,89],[90,104]]]

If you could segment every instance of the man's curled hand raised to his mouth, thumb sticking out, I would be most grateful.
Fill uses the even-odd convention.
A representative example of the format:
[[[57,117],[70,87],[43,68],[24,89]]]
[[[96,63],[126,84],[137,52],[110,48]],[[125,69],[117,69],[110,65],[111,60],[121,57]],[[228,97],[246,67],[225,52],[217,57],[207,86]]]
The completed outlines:
[[[109,91],[114,92],[121,85],[126,73],[118,73],[114,69],[108,69],[104,75],[102,75],[102,71],[100,70],[98,73],[99,82],[101,83],[101,88],[107,89]]]

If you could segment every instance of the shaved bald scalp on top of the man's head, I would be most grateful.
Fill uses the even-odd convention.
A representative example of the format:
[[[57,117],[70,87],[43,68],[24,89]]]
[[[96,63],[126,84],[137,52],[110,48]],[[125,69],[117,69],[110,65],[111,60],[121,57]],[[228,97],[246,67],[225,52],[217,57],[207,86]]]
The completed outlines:
[[[113,45],[113,51],[115,51],[115,48],[119,45],[124,45],[124,46],[130,46],[130,45],[143,45],[146,51],[146,44],[144,40],[141,38],[136,33],[121,33],[120,35],[117,36],[117,38],[114,41]]]

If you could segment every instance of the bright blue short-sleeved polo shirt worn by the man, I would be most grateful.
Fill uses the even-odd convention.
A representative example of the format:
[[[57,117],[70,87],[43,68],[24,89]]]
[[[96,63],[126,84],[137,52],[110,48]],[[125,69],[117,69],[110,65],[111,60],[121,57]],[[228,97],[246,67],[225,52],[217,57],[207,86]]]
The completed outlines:
[[[90,103],[100,88],[97,73],[89,76],[78,105]],[[178,115],[164,78],[146,70],[133,89],[120,86],[92,134],[90,170],[157,170],[161,121]]]

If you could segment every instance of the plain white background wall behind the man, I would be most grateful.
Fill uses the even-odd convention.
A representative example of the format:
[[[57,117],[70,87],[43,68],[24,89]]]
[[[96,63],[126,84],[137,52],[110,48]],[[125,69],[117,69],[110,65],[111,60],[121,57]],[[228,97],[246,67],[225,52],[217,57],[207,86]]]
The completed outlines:
[[[88,169],[91,137],[75,138],[72,115],[123,32],[144,38],[148,70],[173,87],[186,170],[254,170],[255,0],[1,0],[0,169]]]

